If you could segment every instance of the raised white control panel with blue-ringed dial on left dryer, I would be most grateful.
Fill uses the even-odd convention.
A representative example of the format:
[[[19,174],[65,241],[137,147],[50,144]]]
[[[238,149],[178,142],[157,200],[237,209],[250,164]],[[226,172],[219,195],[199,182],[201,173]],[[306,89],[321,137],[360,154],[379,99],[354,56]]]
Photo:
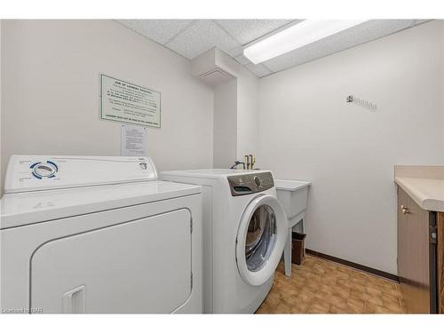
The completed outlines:
[[[4,193],[120,184],[157,178],[149,157],[12,155]]]

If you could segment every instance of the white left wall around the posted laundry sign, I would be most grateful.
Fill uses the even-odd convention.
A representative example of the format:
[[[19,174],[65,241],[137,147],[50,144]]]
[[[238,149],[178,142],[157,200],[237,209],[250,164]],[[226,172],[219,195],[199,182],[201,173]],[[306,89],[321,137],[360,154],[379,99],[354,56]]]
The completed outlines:
[[[162,129],[148,130],[159,170],[212,166],[213,92],[187,59],[112,20],[2,28],[3,169],[12,154],[120,155],[120,124],[99,120],[99,73],[162,92]]]

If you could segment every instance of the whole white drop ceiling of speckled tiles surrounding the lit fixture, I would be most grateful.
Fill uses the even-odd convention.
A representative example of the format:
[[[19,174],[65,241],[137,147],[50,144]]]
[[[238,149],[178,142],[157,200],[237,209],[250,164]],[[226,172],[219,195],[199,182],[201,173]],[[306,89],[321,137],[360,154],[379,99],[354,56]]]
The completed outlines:
[[[254,65],[242,55],[247,44],[302,20],[117,20],[186,59],[213,47],[226,52],[258,77],[320,59],[370,42],[426,20],[369,20],[359,26]]]

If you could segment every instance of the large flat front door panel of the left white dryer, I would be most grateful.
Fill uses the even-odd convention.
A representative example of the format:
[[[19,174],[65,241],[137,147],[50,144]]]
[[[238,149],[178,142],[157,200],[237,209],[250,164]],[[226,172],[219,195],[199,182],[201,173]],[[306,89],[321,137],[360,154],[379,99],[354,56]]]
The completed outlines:
[[[31,307],[174,312],[191,294],[190,220],[175,210],[44,243],[31,258]]]

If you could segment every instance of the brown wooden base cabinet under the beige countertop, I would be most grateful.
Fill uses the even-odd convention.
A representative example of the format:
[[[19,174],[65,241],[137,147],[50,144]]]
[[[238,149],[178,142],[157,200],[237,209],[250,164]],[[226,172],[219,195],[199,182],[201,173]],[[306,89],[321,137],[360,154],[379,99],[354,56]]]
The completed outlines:
[[[442,242],[438,250],[437,216],[421,209],[398,187],[398,275],[408,313],[439,311],[439,290],[444,289],[439,281],[444,277],[439,266]]]

